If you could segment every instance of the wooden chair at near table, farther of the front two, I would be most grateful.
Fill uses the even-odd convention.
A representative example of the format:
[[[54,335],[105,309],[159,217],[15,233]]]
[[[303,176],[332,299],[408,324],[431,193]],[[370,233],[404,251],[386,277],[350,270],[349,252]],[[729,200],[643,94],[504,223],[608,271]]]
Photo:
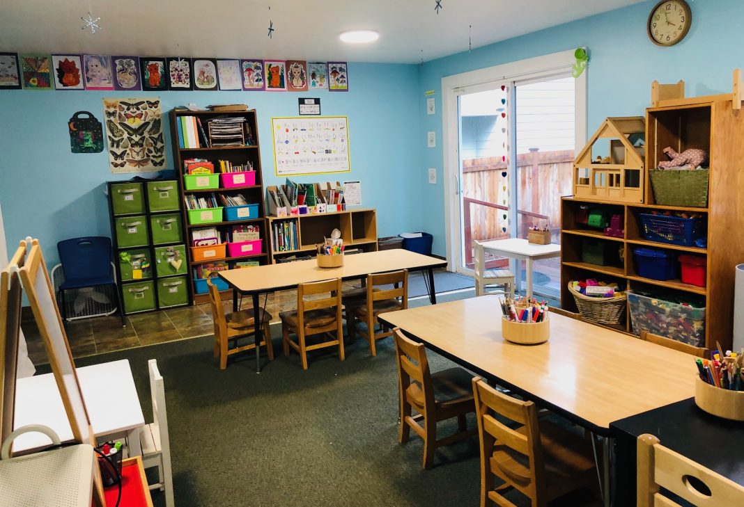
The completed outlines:
[[[413,428],[423,438],[423,468],[432,468],[437,447],[475,435],[476,429],[468,430],[465,420],[466,414],[475,410],[472,375],[458,367],[431,373],[423,344],[405,338],[398,329],[393,333],[400,397],[398,440],[408,443]],[[412,410],[417,415],[411,415]],[[437,422],[452,417],[458,418],[458,433],[437,440]]]

